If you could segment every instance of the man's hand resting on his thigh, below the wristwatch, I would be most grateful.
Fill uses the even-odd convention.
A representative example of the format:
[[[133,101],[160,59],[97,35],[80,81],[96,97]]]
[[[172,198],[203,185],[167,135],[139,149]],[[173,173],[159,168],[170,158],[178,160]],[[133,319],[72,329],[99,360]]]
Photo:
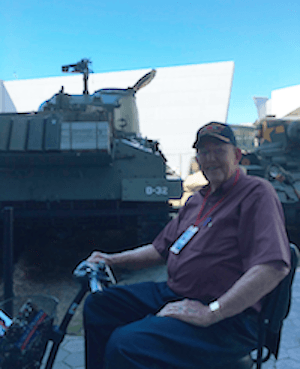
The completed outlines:
[[[221,320],[218,314],[212,313],[207,305],[189,299],[168,303],[156,316],[171,317],[200,327],[208,327]]]

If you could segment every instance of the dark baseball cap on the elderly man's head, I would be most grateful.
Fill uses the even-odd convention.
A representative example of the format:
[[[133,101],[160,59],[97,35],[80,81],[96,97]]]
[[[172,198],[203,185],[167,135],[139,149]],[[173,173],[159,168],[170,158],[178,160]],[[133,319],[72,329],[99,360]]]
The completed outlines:
[[[219,122],[210,122],[201,127],[197,132],[196,141],[194,142],[193,148],[198,148],[200,143],[203,142],[204,137],[215,137],[225,143],[230,143],[236,146],[236,140],[233,130],[228,124]]]

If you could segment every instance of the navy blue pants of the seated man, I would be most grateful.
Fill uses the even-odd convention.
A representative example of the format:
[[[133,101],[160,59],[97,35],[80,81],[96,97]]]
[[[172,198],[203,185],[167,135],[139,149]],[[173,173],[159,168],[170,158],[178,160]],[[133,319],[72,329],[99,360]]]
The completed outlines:
[[[256,314],[242,313],[206,328],[155,316],[180,299],[165,282],[113,286],[89,295],[86,369],[206,369],[254,349]]]

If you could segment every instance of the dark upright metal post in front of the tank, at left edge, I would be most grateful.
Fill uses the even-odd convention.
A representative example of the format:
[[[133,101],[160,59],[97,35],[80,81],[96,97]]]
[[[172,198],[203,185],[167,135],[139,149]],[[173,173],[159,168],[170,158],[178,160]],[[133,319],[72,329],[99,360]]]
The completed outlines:
[[[3,209],[3,279],[4,300],[11,299],[13,293],[13,208]],[[12,303],[7,305],[7,311],[13,315]]]

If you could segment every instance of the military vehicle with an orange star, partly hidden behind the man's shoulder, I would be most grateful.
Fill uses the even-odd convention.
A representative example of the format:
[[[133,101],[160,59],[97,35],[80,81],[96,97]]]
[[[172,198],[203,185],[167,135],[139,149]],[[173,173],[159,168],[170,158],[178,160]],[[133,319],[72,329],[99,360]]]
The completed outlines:
[[[250,175],[268,179],[283,205],[292,242],[300,229],[300,117],[267,116],[255,123],[257,147],[243,155],[241,164]]]

